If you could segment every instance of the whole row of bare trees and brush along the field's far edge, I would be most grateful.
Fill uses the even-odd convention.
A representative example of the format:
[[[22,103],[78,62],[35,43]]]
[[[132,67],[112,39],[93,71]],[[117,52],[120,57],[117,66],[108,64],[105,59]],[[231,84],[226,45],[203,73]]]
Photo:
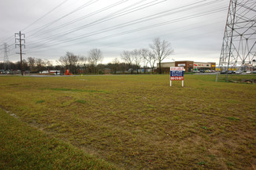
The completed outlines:
[[[0,68],[4,70],[22,70],[30,71],[31,73],[39,73],[42,71],[58,70],[62,73],[69,70],[72,74],[139,74],[139,69],[143,68],[144,73],[147,68],[150,72],[154,72],[155,64],[159,65],[159,74],[161,74],[161,61],[165,60],[173,49],[171,44],[160,38],[154,38],[149,48],[124,50],[120,54],[120,59],[115,58],[112,62],[102,64],[103,54],[100,49],[91,49],[87,56],[78,56],[72,52],[66,52],[65,56],[60,56],[56,60],[57,65],[54,65],[49,60],[43,60],[35,57],[28,57],[27,60],[22,60],[13,63],[0,63]]]

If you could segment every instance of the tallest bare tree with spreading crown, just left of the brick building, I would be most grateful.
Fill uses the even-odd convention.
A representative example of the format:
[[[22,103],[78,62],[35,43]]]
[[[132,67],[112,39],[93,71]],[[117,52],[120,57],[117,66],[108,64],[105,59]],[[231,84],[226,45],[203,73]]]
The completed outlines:
[[[173,52],[171,44],[165,40],[161,41],[160,38],[154,38],[153,44],[150,44],[150,49],[156,56],[159,63],[159,74],[161,74],[161,61],[165,60]]]

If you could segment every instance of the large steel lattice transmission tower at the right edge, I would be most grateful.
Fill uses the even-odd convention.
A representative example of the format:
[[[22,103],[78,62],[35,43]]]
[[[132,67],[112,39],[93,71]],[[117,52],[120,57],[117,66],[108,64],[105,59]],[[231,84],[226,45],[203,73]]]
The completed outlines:
[[[256,1],[230,0],[218,71],[225,71],[228,81],[227,71],[252,70],[255,55]]]

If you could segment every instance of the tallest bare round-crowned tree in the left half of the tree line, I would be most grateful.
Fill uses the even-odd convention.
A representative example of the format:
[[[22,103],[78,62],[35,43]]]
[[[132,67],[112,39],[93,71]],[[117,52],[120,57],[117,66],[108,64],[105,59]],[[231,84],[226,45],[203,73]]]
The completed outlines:
[[[95,68],[96,74],[98,62],[103,60],[102,51],[100,49],[91,49],[88,52],[88,60],[91,63],[91,66]]]

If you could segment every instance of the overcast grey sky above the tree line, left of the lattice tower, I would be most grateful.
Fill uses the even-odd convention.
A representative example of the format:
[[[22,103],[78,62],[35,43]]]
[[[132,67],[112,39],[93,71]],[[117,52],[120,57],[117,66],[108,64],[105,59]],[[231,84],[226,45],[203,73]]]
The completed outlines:
[[[218,62],[228,0],[0,0],[0,45],[17,61],[14,33],[25,34],[28,57],[58,60],[65,52],[87,56],[101,49],[103,63],[124,50],[149,48],[165,39],[173,54],[165,62]],[[3,45],[0,47],[2,49]],[[0,62],[3,60],[1,50]],[[120,59],[121,60],[121,59]]]

